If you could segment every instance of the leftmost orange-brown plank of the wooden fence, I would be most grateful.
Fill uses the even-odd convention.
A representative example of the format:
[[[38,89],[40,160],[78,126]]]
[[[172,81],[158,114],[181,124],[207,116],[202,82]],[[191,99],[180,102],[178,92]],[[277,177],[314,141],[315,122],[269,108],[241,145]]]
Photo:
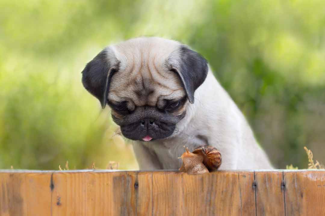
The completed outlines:
[[[50,215],[50,172],[7,172],[0,179],[1,216]]]

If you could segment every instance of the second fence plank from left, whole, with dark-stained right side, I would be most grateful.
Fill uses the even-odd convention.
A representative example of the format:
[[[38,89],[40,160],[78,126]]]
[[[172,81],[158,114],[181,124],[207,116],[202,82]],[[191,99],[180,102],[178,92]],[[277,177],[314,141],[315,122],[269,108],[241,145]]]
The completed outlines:
[[[53,182],[52,215],[136,213],[136,172],[56,172]]]

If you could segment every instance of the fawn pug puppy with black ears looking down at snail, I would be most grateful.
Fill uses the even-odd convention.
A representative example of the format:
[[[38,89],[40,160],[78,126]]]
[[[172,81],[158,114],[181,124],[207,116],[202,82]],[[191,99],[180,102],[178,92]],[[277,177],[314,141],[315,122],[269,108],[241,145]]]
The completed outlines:
[[[141,170],[178,169],[184,145],[214,146],[223,170],[272,168],[207,61],[184,44],[142,37],[111,45],[85,66],[82,83],[134,140]]]

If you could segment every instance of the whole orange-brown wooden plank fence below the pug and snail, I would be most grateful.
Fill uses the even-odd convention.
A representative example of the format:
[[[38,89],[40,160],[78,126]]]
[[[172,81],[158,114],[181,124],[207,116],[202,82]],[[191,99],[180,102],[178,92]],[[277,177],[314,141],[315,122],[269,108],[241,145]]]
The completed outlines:
[[[325,215],[325,170],[0,170],[0,215]]]

